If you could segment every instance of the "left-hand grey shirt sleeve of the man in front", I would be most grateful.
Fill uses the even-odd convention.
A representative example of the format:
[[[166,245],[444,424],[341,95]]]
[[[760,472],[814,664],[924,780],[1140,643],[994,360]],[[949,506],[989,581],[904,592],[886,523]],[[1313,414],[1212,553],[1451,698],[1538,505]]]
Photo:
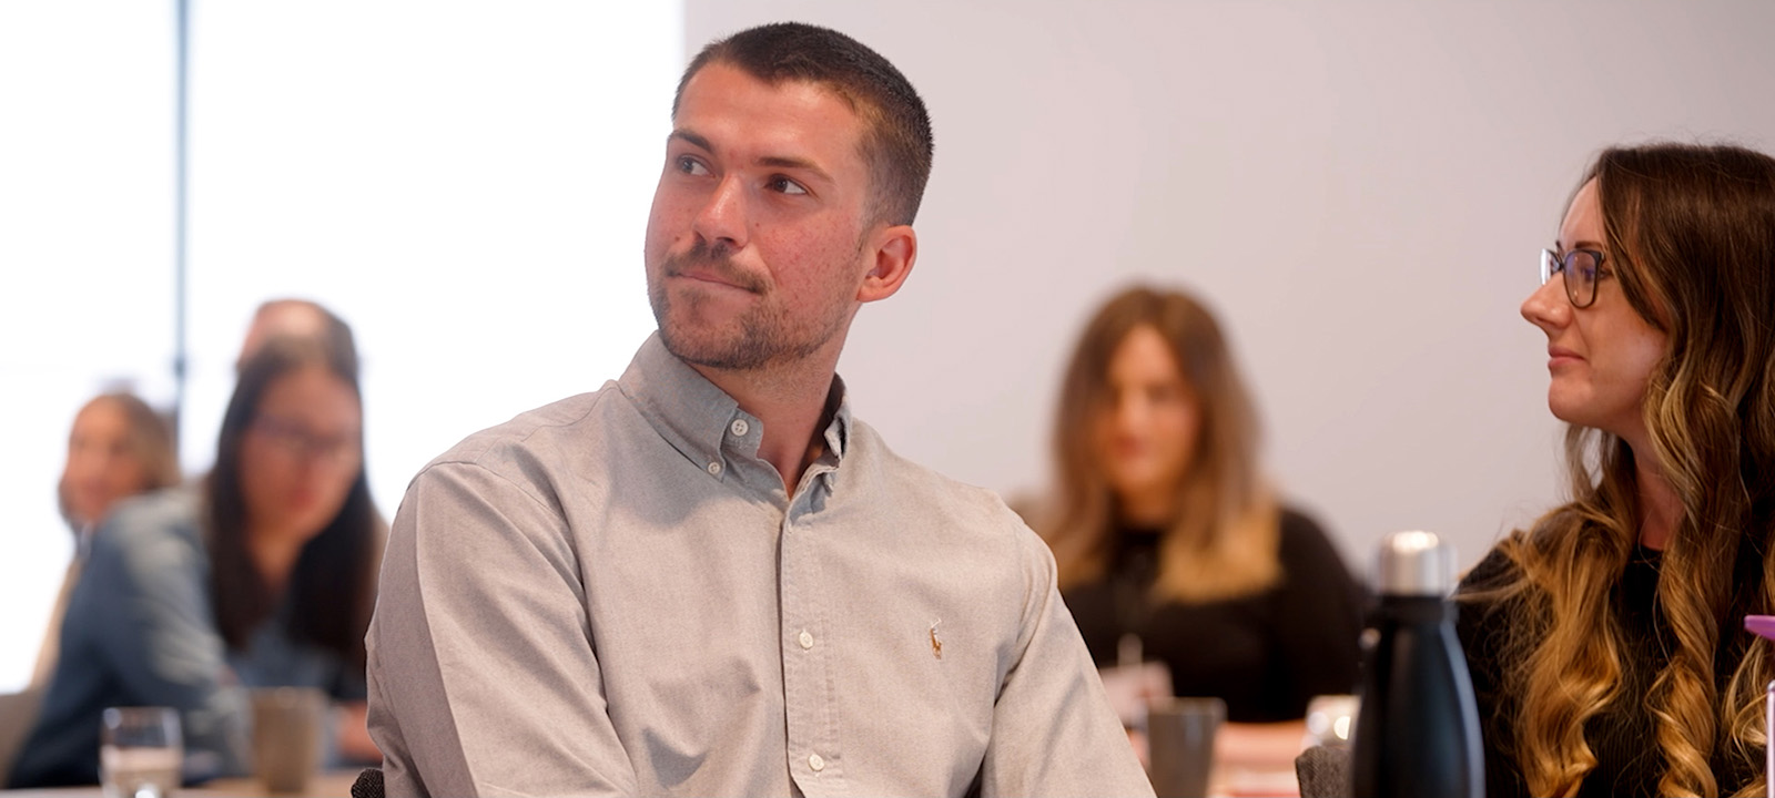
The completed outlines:
[[[390,796],[632,794],[556,502],[479,465],[406,491],[369,638]]]

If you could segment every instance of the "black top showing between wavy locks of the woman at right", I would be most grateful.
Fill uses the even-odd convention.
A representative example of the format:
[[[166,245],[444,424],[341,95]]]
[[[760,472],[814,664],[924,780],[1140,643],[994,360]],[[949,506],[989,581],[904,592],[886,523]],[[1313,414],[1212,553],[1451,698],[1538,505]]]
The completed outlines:
[[[1612,589],[1610,599],[1615,603],[1624,642],[1622,685],[1615,700],[1583,727],[1583,738],[1590,743],[1590,752],[1596,754],[1596,770],[1583,778],[1583,786],[1578,789],[1580,796],[1658,794],[1658,778],[1665,763],[1658,750],[1656,727],[1645,697],[1651,693],[1653,677],[1670,661],[1667,651],[1674,645],[1674,638],[1656,610],[1660,559],[1658,550],[1635,546],[1628,567]],[[1493,550],[1461,580],[1461,592],[1502,587],[1512,582],[1514,575],[1516,566],[1509,557]],[[1747,582],[1740,580],[1740,583]],[[1748,583],[1755,583],[1755,580]],[[1720,695],[1725,695],[1725,685],[1747,645],[1764,644],[1745,631],[1745,614],[1740,606],[1743,603],[1734,601],[1727,624],[1720,628],[1720,656],[1715,658],[1715,686]],[[1519,601],[1463,601],[1456,622],[1473,677],[1473,695],[1479,699],[1480,734],[1486,741],[1486,793],[1493,798],[1528,794],[1528,784],[1516,764],[1514,743],[1511,741],[1516,704],[1502,674],[1502,663],[1507,661],[1507,656],[1523,656],[1503,651],[1507,635],[1523,619],[1523,612]],[[1715,747],[1711,757],[1720,793],[1736,793],[1738,787],[1761,778],[1761,768],[1755,766],[1761,761],[1761,752],[1755,752],[1757,763],[1748,763],[1724,755],[1722,748]]]

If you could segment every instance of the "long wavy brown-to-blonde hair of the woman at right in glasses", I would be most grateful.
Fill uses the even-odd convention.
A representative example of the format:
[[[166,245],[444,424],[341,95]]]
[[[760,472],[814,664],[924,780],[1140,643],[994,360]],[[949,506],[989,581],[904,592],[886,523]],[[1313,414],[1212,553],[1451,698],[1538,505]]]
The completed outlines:
[[[1571,502],[1503,541],[1516,580],[1473,596],[1528,610],[1502,656],[1514,754],[1530,794],[1576,794],[1596,768],[1585,724],[1644,700],[1660,794],[1761,794],[1761,777],[1718,784],[1711,763],[1763,771],[1775,679],[1768,645],[1743,631],[1745,614],[1775,612],[1775,160],[1732,145],[1617,147],[1580,186],[1592,179],[1608,264],[1668,349],[1642,410],[1651,450],[1567,429]],[[1612,599],[1644,520],[1635,458],[1653,458],[1681,502],[1654,608],[1668,661],[1645,695],[1622,690],[1631,663]]]

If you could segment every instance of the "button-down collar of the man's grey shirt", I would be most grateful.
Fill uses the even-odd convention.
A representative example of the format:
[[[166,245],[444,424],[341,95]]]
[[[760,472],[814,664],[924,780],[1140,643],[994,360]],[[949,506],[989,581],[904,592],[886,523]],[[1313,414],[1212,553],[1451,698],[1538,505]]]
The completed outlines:
[[[738,401],[667,351],[659,332],[648,335],[616,385],[678,454],[710,475],[717,479],[722,475],[724,468],[712,465],[724,463],[724,445],[728,454],[758,458],[763,422],[740,410]],[[836,466],[850,445],[850,395],[836,374],[827,401],[836,401],[838,410],[825,427],[822,459],[834,458]]]

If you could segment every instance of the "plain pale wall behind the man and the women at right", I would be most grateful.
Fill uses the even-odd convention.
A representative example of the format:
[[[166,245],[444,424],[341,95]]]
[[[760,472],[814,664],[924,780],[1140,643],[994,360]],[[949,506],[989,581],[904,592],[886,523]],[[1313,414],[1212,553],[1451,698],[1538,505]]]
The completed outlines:
[[[1775,149],[1775,4],[689,0],[685,50],[774,20],[856,35],[934,117],[918,268],[840,369],[900,452],[1038,488],[1085,317],[1187,286],[1361,569],[1408,527],[1470,564],[1557,500],[1518,305],[1594,151]]]

